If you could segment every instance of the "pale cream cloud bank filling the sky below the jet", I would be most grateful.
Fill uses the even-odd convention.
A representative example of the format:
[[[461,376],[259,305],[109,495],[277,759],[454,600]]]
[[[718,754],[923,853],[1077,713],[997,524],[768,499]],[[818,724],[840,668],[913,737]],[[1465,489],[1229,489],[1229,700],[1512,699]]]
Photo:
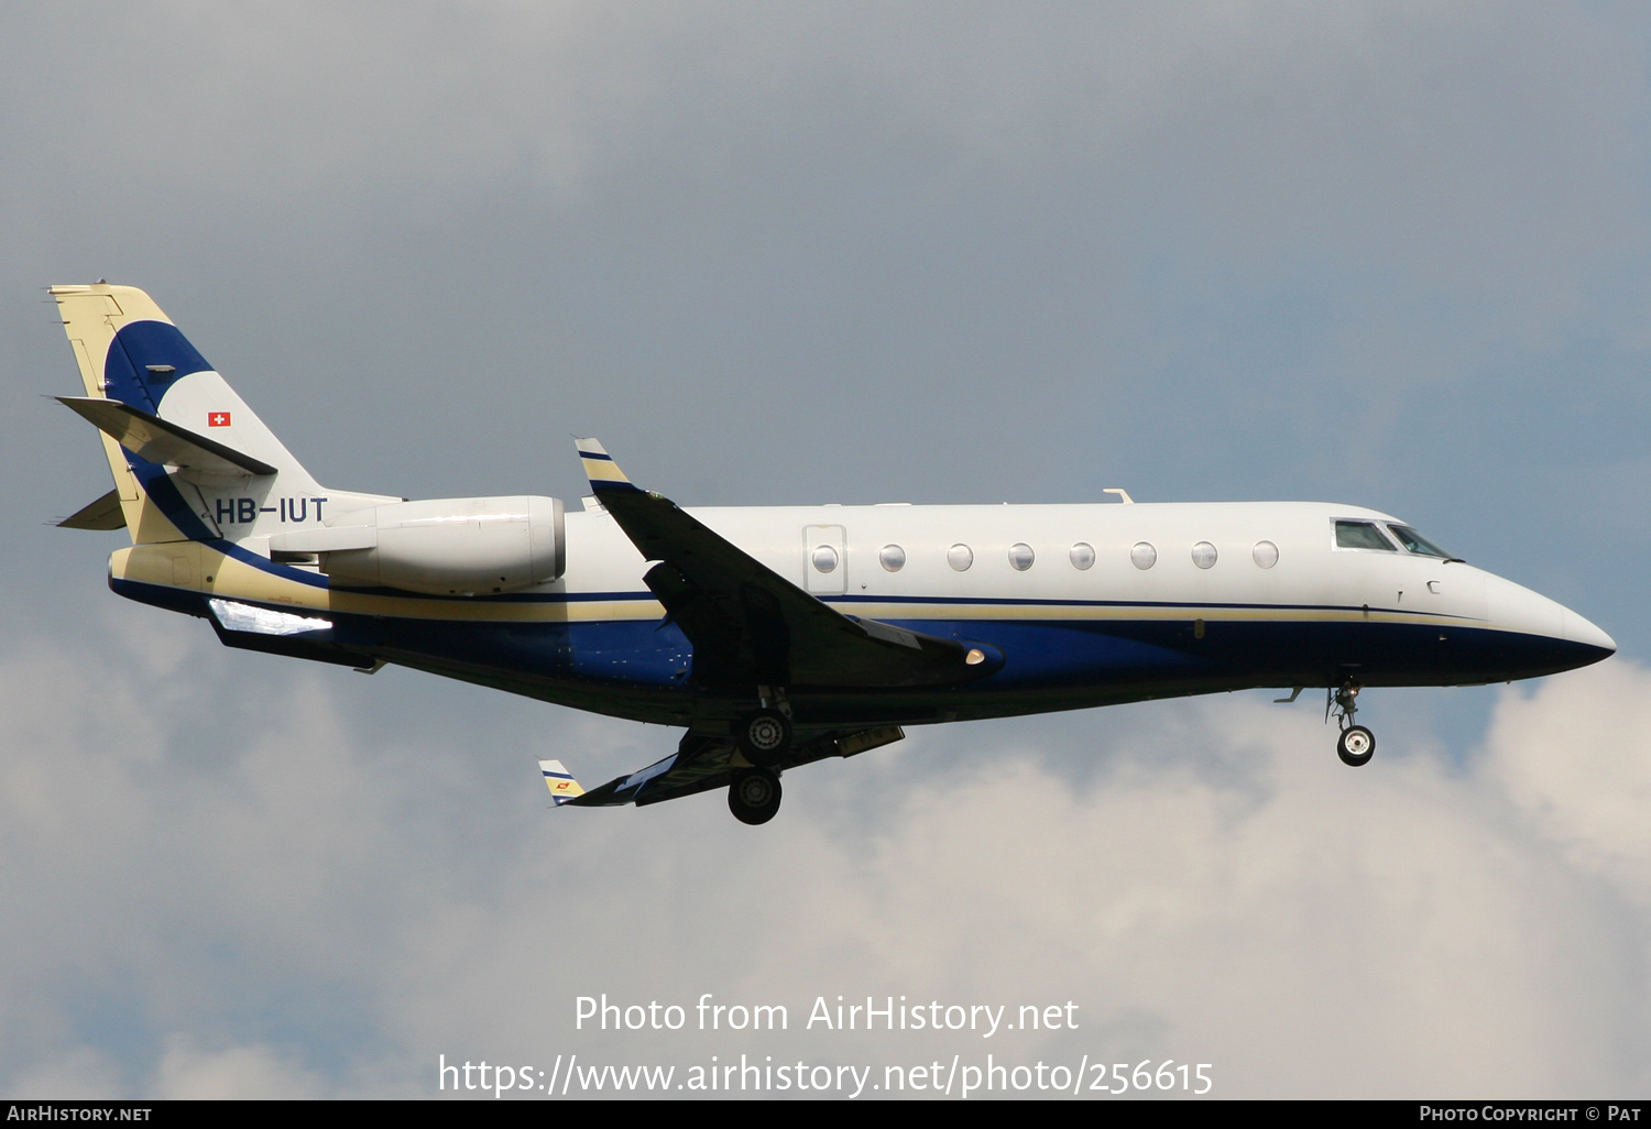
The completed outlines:
[[[170,731],[48,739],[69,668]],[[130,665],[36,652],[3,682],[7,1088],[419,1094],[441,1053],[746,1050],[1176,1058],[1213,1063],[1228,1096],[1631,1089],[1643,1071],[1615,1048],[1644,1038],[1644,758],[1593,749],[1643,743],[1648,683],[1613,664],[1512,693],[1466,771],[1403,748],[1349,771],[1316,718],[1242,701],[1159,710],[1085,749],[1101,766],[1076,786],[1025,749],[956,771],[936,756],[1014,728],[921,733],[789,776],[756,830],[717,796],[540,810],[525,769],[500,794],[480,787],[485,761],[352,733],[343,688],[307,672],[272,700],[309,706],[213,738],[213,763],[183,749],[196,721],[142,705],[154,687]],[[1020,725],[1042,756],[1078,754],[1062,726]],[[538,736],[556,733],[664,731],[553,715]],[[1554,756],[1560,739],[1580,754]],[[573,997],[599,992],[779,1002],[792,1032],[575,1033]],[[796,1030],[837,994],[1070,999],[1081,1027],[994,1043]]]

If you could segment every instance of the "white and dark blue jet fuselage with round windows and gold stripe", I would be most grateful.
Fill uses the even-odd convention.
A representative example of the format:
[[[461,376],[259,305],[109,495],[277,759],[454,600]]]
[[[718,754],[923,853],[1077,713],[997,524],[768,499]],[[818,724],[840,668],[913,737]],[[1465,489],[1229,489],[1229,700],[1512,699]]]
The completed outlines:
[[[1397,525],[1349,505],[688,513],[845,614],[1001,655],[994,673],[949,688],[792,685],[799,725],[1009,716],[1250,687],[1327,687],[1349,675],[1362,685],[1471,685],[1554,673],[1611,649],[1587,619],[1463,561],[1337,546],[1337,520]],[[175,606],[177,591],[124,578],[121,558],[142,548],[116,555],[114,588]],[[830,550],[819,561],[829,571],[816,564],[822,548]],[[211,594],[325,616],[330,642],[363,662],[386,659],[639,721],[695,725],[741,708],[743,698],[721,701],[693,685],[692,644],[662,624],[665,612],[642,583],[647,563],[601,508],[566,515],[560,579],[492,598],[335,588],[314,568],[254,556],[231,550]]]

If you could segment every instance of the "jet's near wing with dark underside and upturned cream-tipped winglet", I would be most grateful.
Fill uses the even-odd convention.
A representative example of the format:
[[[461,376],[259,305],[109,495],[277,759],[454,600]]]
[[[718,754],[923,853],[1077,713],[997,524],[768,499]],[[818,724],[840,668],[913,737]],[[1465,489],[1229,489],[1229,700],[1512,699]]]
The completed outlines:
[[[594,439],[591,490],[644,558],[642,578],[693,644],[703,687],[938,687],[992,673],[992,649],[845,616],[659,494],[639,490]]]

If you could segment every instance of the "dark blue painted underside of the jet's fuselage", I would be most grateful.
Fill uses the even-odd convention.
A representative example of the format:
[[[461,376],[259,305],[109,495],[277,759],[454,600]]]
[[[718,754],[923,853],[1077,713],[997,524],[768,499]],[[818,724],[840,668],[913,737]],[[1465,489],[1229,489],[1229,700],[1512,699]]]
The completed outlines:
[[[266,561],[267,564],[267,561]],[[281,568],[281,566],[276,566]],[[282,569],[287,571],[287,569]],[[205,614],[205,598],[130,581],[122,596]],[[1162,609],[1157,609],[1162,612]],[[697,697],[693,649],[657,621],[444,622],[334,614],[332,631],[300,640],[362,662],[386,659],[546,701],[637,720],[675,718]],[[1554,673],[1603,659],[1595,647],[1468,627],[1380,621],[892,621],[984,642],[1002,670],[930,690],[792,687],[799,720],[811,701],[832,721],[921,721],[956,713],[991,716],[1105,705],[1245,687],[1322,687],[1355,675],[1364,685],[1464,685]],[[302,654],[297,647],[294,654]]]

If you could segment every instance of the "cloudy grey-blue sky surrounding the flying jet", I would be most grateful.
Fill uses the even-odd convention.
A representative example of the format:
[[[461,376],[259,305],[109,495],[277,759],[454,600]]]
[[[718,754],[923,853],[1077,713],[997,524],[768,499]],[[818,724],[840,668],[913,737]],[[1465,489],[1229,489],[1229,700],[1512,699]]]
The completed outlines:
[[[0,35],[0,1093],[428,1096],[438,1061],[1210,1063],[1651,1088],[1638,5],[18,7]],[[913,730],[545,810],[675,731],[226,652],[121,535],[41,287],[147,289],[335,489],[1311,498],[1598,622],[1540,683]],[[580,995],[791,1030],[575,1030]],[[816,1000],[1076,1030],[804,1030]],[[692,1020],[688,1027],[695,1023]],[[680,1075],[679,1075],[680,1078]]]

